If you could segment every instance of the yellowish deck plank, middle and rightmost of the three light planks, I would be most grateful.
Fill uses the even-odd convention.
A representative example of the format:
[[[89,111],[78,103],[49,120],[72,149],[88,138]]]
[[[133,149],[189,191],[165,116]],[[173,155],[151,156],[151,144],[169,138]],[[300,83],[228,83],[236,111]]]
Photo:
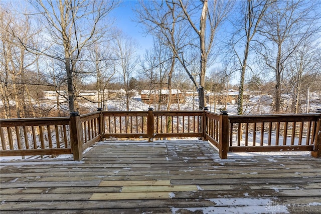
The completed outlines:
[[[198,191],[196,185],[123,186],[121,192]]]

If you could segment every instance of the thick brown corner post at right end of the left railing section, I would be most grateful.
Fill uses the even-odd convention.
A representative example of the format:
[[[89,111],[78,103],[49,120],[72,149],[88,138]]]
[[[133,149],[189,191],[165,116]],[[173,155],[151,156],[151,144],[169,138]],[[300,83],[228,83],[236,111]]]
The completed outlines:
[[[82,138],[79,112],[70,112],[70,144],[74,160],[82,159]]]

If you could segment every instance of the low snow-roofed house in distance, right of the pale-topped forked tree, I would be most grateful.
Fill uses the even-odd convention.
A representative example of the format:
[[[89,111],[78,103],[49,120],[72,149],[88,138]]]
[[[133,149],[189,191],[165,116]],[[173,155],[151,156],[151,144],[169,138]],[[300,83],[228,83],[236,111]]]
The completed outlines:
[[[207,93],[205,95],[206,103],[216,103],[216,104],[236,104],[239,96],[238,91],[229,91],[229,92],[216,92],[216,93]],[[243,99],[248,100],[250,94],[248,92],[243,92]]]

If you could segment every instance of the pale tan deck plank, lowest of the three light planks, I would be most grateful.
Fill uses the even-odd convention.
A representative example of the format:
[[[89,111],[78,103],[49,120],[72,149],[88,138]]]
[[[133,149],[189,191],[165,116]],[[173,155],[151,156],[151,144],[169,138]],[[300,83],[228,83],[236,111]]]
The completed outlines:
[[[141,200],[141,199],[170,199],[171,192],[117,192],[93,193],[89,200]]]

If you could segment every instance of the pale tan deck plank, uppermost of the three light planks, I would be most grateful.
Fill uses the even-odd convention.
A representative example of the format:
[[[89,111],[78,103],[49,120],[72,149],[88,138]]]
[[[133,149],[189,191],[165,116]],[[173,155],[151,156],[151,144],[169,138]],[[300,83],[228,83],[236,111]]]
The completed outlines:
[[[145,185],[171,185],[170,180],[111,180],[101,181],[99,186],[145,186]]]

